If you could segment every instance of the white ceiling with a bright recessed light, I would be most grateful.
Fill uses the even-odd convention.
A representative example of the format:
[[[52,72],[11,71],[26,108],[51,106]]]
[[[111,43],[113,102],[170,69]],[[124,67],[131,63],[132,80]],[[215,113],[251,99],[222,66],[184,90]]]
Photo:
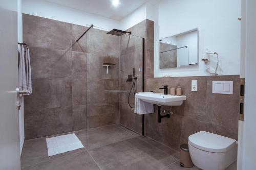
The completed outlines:
[[[114,7],[111,0],[45,0],[58,5],[80,11],[121,20],[145,3],[155,5],[160,0],[120,0],[120,5]]]

